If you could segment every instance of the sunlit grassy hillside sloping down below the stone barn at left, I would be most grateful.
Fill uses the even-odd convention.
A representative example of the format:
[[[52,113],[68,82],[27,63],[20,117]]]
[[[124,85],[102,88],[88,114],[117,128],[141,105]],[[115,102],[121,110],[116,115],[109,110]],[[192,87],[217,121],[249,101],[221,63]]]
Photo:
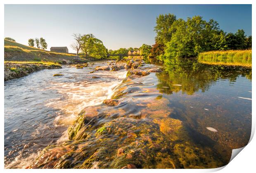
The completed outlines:
[[[5,61],[46,61],[55,63],[83,63],[79,56],[51,52],[5,40]]]

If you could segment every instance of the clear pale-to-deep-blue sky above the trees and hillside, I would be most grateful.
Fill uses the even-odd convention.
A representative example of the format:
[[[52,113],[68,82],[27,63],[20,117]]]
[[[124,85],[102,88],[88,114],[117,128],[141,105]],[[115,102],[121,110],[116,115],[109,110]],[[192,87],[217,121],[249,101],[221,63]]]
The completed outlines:
[[[73,33],[92,33],[107,49],[154,44],[159,14],[187,19],[200,15],[218,21],[220,28],[251,35],[251,5],[5,5],[5,37],[21,44],[44,37],[50,47],[67,46]]]

